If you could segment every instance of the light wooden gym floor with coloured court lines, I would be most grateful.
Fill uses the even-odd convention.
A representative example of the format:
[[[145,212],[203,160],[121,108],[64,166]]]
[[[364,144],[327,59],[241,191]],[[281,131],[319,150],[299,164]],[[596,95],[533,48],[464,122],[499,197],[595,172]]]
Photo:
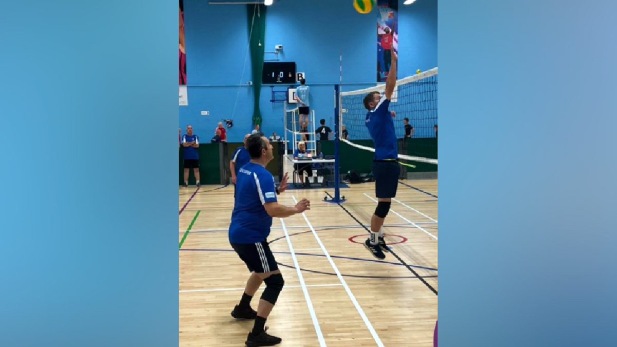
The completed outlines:
[[[349,214],[323,201],[332,188],[278,196],[286,205],[294,198],[311,201],[305,215],[273,219],[268,238],[285,279],[266,323],[283,339],[279,346],[433,346],[437,180],[402,183],[383,229],[400,259],[386,253],[384,261],[360,244],[368,233],[358,221],[370,225],[376,207],[374,183],[341,189]],[[231,185],[180,188],[180,346],[244,346],[252,328],[252,321],[230,316],[249,277],[227,238],[233,191]]]

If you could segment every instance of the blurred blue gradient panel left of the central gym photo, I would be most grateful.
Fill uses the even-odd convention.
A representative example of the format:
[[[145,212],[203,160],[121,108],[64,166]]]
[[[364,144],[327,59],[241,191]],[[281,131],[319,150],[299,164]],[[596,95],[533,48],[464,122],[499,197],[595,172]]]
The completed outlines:
[[[176,346],[178,3],[0,10],[0,346]]]

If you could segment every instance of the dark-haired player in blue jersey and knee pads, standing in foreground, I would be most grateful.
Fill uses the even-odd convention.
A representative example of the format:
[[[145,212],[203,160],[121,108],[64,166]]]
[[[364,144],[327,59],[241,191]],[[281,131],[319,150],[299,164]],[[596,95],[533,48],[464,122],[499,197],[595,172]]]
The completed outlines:
[[[234,209],[231,214],[229,239],[231,247],[251,271],[240,303],[234,307],[231,316],[236,319],[255,319],[246,345],[251,347],[273,346],[281,338],[265,332],[265,322],[285,284],[283,276],[268,246],[272,218],[284,218],[310,209],[310,202],[302,199],[294,207],[283,206],[276,201],[276,195],[286,190],[287,174],[276,188],[274,177],[265,166],[273,158],[272,146],[267,138],[254,134],[246,141],[251,161],[238,170]],[[251,299],[262,282],[266,283],[257,306],[251,308]]]

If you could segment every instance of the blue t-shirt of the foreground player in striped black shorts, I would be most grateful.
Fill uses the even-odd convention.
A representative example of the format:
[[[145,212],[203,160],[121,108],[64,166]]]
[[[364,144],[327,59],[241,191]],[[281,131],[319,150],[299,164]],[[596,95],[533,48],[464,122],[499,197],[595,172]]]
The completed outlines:
[[[244,165],[236,179],[236,199],[231,212],[231,243],[257,243],[270,235],[272,217],[263,204],[276,201],[274,177],[254,162]]]

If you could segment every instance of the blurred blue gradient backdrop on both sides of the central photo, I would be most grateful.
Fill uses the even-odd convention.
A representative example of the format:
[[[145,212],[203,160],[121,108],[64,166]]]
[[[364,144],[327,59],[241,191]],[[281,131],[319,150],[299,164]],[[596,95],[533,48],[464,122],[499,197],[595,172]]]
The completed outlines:
[[[0,346],[176,345],[176,6],[2,5]],[[440,1],[442,347],[615,345],[616,13]]]

